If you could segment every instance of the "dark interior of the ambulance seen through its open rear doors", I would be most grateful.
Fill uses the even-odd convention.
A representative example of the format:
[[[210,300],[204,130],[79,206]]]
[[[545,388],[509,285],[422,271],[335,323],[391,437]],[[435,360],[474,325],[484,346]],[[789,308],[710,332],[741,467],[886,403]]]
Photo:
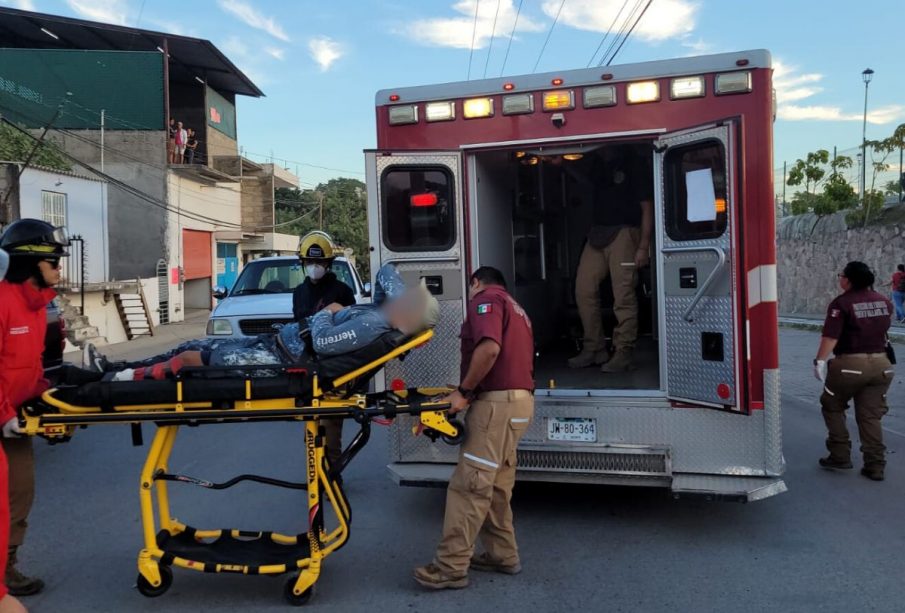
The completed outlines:
[[[656,228],[651,236],[651,265],[638,271],[635,286],[635,369],[604,374],[599,366],[570,369],[567,364],[581,349],[576,273],[588,231],[600,219],[595,207],[619,205],[601,201],[607,182],[626,179],[616,173],[633,175],[631,202],[621,206],[640,207],[642,199],[652,199],[652,158],[650,142],[570,144],[473,156],[469,167],[474,173],[471,210],[476,217],[479,263],[503,271],[513,296],[531,317],[538,389],[661,388]],[[609,277],[600,284],[599,299],[603,330],[612,351],[617,322]]]

